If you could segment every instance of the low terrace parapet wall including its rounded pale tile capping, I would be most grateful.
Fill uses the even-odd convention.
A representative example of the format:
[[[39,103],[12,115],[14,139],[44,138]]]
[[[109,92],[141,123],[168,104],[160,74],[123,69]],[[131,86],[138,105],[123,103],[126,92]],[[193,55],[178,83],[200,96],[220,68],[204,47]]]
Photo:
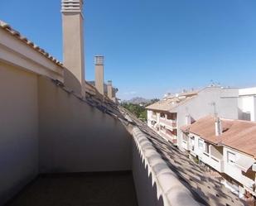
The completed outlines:
[[[199,205],[138,127],[133,128],[133,139],[133,180],[138,205]]]

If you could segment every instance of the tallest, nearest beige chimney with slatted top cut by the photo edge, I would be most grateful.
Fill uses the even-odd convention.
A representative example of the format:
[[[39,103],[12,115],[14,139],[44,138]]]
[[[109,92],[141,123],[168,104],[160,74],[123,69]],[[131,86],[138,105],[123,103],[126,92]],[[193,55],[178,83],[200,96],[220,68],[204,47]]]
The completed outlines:
[[[85,95],[83,0],[62,0],[63,64],[65,85]]]

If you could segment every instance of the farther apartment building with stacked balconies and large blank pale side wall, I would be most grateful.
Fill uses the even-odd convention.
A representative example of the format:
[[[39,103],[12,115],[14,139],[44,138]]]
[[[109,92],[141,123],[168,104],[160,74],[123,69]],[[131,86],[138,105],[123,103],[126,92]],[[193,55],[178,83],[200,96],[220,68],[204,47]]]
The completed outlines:
[[[237,119],[238,90],[209,86],[199,91],[178,93],[147,107],[147,125],[167,141],[182,147],[180,127],[205,115]]]

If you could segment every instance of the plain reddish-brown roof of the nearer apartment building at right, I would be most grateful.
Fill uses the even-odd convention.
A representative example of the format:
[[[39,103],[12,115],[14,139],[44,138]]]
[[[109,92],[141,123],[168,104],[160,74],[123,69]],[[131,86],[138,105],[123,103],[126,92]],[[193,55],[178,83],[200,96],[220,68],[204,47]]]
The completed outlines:
[[[215,136],[215,117],[200,118],[190,126],[181,127],[184,132],[192,132],[206,141],[223,144],[256,158],[256,122],[220,119],[223,133]]]

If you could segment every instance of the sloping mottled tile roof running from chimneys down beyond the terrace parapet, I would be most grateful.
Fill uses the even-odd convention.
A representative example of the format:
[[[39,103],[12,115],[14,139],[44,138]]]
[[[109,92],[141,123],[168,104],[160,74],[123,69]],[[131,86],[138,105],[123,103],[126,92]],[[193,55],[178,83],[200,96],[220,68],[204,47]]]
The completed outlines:
[[[60,82],[53,80],[60,88],[70,93]],[[86,83],[88,84],[88,83]],[[90,85],[91,86],[91,85]],[[80,98],[81,101],[88,103],[91,107],[99,109],[101,112],[109,114],[110,116],[119,119],[123,123],[132,123],[133,126],[138,127],[152,142],[152,145],[156,148],[157,152],[162,156],[162,159],[167,162],[170,169],[181,180],[181,184],[184,184],[187,189],[191,191],[193,198],[200,205],[244,205],[241,199],[232,194],[229,189],[226,189],[223,184],[220,184],[220,180],[211,176],[207,171],[200,168],[192,162],[188,156],[179,151],[176,146],[172,146],[167,141],[164,141],[156,132],[137,117],[134,117],[132,113],[129,113],[126,109],[118,106],[113,101],[104,97],[97,90],[91,86],[94,92],[87,93],[86,98]],[[75,93],[71,93],[75,95]],[[129,122],[125,115],[133,120]]]

